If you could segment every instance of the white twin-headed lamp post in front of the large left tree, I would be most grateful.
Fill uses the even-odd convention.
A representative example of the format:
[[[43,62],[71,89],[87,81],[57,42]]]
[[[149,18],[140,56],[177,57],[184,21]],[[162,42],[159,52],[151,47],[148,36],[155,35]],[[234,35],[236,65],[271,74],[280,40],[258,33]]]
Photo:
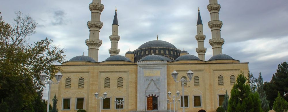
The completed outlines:
[[[39,75],[41,82],[42,82],[44,85],[48,84],[48,86],[49,86],[49,89],[48,89],[47,110],[46,110],[46,112],[49,112],[50,89],[51,89],[51,86],[52,86],[52,84],[58,84],[58,83],[60,82],[62,76],[63,76],[63,75],[62,75],[60,72],[58,72],[58,73],[55,74],[55,78],[56,78],[57,82],[53,82],[52,80],[48,80],[47,83],[44,83],[44,80],[47,78],[47,75],[46,75],[45,73],[41,73],[41,74]]]

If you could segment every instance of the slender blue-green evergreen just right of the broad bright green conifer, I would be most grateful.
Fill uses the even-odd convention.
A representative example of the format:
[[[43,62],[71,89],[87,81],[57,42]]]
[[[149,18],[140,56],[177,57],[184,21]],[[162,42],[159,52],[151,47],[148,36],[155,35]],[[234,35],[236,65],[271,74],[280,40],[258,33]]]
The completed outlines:
[[[262,110],[264,112],[268,112],[269,101],[266,99],[267,95],[266,95],[266,92],[264,91],[264,84],[263,84],[263,78],[262,78],[261,72],[259,73],[259,77],[257,79],[257,93],[259,94]]]

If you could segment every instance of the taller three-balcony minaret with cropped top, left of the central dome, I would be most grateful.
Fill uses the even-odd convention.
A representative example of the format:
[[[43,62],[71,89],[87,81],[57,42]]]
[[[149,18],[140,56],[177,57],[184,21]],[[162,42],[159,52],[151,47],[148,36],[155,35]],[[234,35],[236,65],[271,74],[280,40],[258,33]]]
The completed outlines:
[[[89,9],[91,11],[91,21],[87,22],[87,26],[90,29],[90,34],[89,39],[85,40],[85,43],[88,46],[88,56],[98,62],[98,50],[102,45],[102,40],[99,40],[99,32],[103,26],[103,23],[100,21],[100,15],[104,9],[104,5],[101,4],[101,0],[93,0],[89,4]]]

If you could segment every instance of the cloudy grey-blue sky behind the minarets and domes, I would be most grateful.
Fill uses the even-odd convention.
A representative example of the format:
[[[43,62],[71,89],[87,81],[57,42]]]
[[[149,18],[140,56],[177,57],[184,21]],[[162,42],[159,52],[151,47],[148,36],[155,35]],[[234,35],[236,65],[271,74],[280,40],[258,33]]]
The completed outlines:
[[[66,60],[87,55],[85,40],[89,38],[87,21],[90,21],[88,4],[92,0],[3,0],[0,12],[7,23],[13,23],[14,11],[29,14],[38,23],[37,33],[29,42],[46,37],[54,40],[54,45],[66,49]],[[223,54],[240,62],[249,62],[249,70],[258,77],[262,72],[264,81],[270,81],[277,65],[287,61],[288,56],[288,1],[287,0],[219,0],[220,20],[223,21],[221,37],[225,39]],[[100,40],[98,62],[108,58],[111,46],[111,24],[117,6],[119,23],[118,48],[123,55],[141,44],[164,40],[178,49],[185,48],[190,54],[195,51],[197,41],[196,23],[198,7],[206,40],[206,60],[212,57],[209,44],[211,31],[207,5],[209,0],[103,0],[101,14],[103,27]],[[45,96],[43,98],[47,99]]]

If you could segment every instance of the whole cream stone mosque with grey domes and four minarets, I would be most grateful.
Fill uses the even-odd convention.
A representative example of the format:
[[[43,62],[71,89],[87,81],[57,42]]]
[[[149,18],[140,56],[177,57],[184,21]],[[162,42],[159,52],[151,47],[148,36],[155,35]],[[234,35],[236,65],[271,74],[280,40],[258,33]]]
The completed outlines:
[[[209,0],[209,3],[207,8],[211,21],[208,26],[212,33],[209,44],[213,49],[213,56],[209,60],[205,60],[206,36],[203,34],[200,11],[196,25],[197,34],[195,31],[198,56],[179,50],[169,42],[158,40],[158,36],[156,40],[146,42],[121,56],[118,55],[120,35],[115,10],[112,34],[109,36],[111,56],[98,62],[98,50],[102,44],[99,32],[103,26],[100,15],[104,5],[101,0],[93,0],[89,4],[91,21],[87,23],[90,35],[89,39],[85,40],[88,56],[76,56],[58,66],[62,69],[63,77],[58,85],[52,85],[50,100],[52,101],[55,94],[58,98],[58,110],[65,112],[76,112],[78,109],[89,112],[116,112],[118,109],[123,112],[166,112],[170,111],[171,107],[172,111],[174,110],[173,104],[170,107],[167,103],[167,99],[173,102],[173,98],[167,94],[170,91],[171,97],[176,96],[175,109],[178,111],[182,111],[184,106],[185,111],[189,112],[215,112],[217,107],[222,105],[226,90],[230,95],[237,74],[240,71],[248,72],[248,63],[222,54],[224,39],[220,34],[220,5],[217,0]],[[194,72],[192,76],[186,75],[191,71]],[[173,77],[172,73],[178,76]],[[178,81],[182,78],[191,81],[175,82],[174,78]],[[179,97],[177,91],[180,92]],[[105,99],[96,99],[96,92],[98,98],[107,96]],[[117,105],[116,100],[124,101],[123,105]]]

